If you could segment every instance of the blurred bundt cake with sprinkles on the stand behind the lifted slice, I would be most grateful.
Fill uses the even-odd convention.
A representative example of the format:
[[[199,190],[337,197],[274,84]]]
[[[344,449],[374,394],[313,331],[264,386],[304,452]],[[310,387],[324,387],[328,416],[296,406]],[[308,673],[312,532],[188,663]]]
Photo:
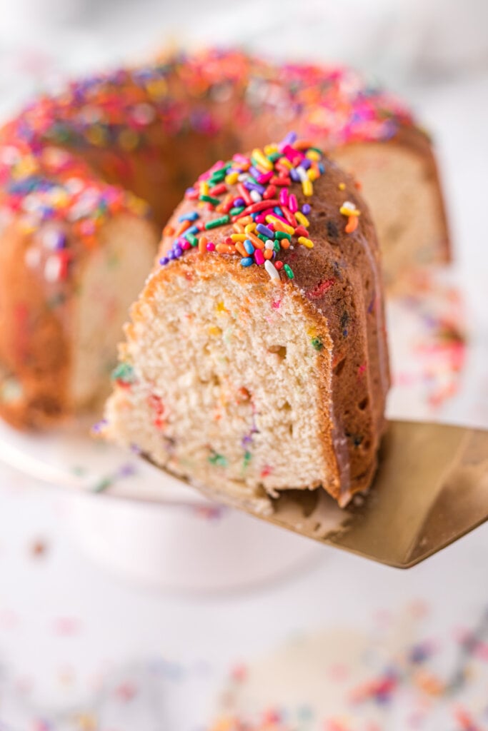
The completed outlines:
[[[40,425],[100,398],[185,187],[288,129],[358,175],[388,283],[446,258],[427,136],[350,69],[204,50],[71,83],[0,130],[0,414]]]

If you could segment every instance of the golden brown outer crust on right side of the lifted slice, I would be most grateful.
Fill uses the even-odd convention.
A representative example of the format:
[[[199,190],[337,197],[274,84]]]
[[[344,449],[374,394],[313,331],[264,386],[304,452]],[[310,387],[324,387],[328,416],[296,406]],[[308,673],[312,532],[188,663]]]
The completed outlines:
[[[347,188],[340,190],[339,183]],[[304,265],[296,265],[294,281],[326,318],[334,342],[334,428],[337,450],[342,444],[348,455],[349,474],[342,476],[347,496],[369,485],[385,427],[389,370],[380,252],[352,179],[329,166],[315,185],[320,204],[307,216],[315,248]],[[346,199],[361,211],[351,234],[339,213]]]

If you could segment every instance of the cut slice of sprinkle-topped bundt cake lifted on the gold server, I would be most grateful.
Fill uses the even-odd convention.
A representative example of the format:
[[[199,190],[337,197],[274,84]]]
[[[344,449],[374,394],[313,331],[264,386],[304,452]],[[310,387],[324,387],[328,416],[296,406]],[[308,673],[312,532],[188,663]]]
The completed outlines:
[[[388,391],[375,229],[305,140],[217,162],[187,190],[126,326],[106,439],[214,496],[369,487]]]

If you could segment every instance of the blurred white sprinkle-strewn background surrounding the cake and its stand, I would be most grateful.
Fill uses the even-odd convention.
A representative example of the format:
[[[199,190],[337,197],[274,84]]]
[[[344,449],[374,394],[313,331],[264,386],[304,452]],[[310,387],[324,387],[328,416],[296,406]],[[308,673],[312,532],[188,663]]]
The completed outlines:
[[[390,86],[437,142],[455,253],[395,336],[390,414],[488,428],[487,29],[486,0],[0,0],[0,120],[166,45]],[[0,731],[488,730],[487,526],[405,573],[297,543],[265,585],[181,593],[87,557],[71,516],[91,508],[0,466]]]

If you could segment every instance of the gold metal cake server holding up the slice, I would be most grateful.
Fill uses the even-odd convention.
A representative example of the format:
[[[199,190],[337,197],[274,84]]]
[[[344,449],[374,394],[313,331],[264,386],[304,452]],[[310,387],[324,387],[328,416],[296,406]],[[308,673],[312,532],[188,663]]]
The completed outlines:
[[[205,492],[205,491],[204,491]],[[341,510],[323,491],[290,491],[258,518],[402,569],[418,564],[488,519],[488,431],[391,421],[367,496]]]

